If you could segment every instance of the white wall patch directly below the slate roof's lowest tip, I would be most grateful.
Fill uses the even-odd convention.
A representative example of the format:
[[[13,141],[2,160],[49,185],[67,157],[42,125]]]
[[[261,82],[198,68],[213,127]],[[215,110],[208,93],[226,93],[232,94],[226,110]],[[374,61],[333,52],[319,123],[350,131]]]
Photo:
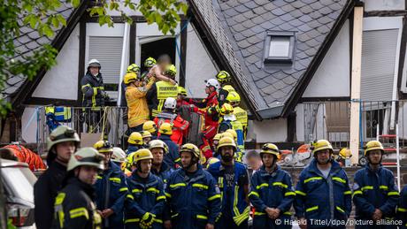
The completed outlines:
[[[257,143],[287,141],[287,119],[253,121]]]

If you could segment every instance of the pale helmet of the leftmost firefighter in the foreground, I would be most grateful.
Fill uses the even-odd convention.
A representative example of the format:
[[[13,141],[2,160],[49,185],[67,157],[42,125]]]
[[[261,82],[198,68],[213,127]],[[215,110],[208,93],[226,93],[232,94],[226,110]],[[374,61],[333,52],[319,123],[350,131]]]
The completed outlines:
[[[78,147],[81,139],[79,135],[69,126],[58,126],[47,138],[47,149],[50,151],[53,146],[60,142],[74,141]]]

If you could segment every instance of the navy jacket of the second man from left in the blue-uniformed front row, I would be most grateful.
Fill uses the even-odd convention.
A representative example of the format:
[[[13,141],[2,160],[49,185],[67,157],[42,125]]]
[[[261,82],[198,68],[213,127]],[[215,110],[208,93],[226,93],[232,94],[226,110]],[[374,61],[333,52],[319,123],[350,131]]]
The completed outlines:
[[[139,223],[146,212],[155,215],[152,228],[163,228],[163,210],[165,208],[164,183],[149,173],[142,179],[136,171],[127,178],[129,193],[126,205],[126,228],[140,228]]]

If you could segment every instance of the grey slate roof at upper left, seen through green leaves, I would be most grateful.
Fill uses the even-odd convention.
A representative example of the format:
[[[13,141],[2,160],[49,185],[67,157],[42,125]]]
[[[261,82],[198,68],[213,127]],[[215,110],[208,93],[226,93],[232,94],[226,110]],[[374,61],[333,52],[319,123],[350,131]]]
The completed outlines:
[[[58,14],[61,14],[66,20],[71,16],[73,12],[73,7],[71,4],[62,3],[61,7],[58,8]],[[24,59],[24,57],[30,57],[33,55],[35,50],[39,50],[43,44],[50,44],[57,34],[61,31],[61,27],[54,29],[54,37],[48,38],[45,35],[40,36],[38,32],[27,26],[23,26],[22,23],[23,15],[19,17],[19,37],[14,39],[14,47],[16,50],[16,56],[13,57],[16,60]],[[10,77],[5,85],[4,90],[1,92],[4,98],[9,97],[16,93],[19,88],[23,85],[26,78],[22,75],[14,75]]]

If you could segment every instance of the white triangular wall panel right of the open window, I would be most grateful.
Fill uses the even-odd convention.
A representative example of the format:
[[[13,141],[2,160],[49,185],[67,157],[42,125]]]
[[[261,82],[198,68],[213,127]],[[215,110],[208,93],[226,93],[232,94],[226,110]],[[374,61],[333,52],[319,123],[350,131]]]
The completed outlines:
[[[191,24],[188,24],[187,46],[185,86],[188,96],[205,97],[204,80],[213,78],[218,72],[218,66],[212,62],[211,56],[204,49],[204,44]]]

